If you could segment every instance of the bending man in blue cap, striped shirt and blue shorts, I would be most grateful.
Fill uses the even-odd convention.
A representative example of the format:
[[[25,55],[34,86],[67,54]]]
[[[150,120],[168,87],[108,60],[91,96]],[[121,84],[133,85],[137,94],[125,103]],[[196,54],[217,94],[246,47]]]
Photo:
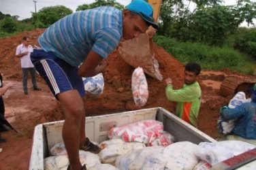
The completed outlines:
[[[149,26],[158,28],[153,7],[144,0],[133,0],[123,12],[101,6],[65,16],[39,36],[31,61],[65,110],[63,141],[68,169],[86,169],[80,163],[79,149],[99,152],[85,135],[82,77],[101,73],[106,67],[104,58],[122,37],[138,37]]]

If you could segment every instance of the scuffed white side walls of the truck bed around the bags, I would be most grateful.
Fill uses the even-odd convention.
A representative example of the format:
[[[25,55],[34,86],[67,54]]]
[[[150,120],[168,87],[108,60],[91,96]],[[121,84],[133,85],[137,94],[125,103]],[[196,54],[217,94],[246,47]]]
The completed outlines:
[[[164,130],[174,135],[176,141],[191,141],[195,144],[202,141],[216,141],[162,107],[86,117],[86,137],[100,143],[108,140],[108,131],[112,127],[139,120],[163,122]],[[50,148],[55,143],[63,141],[61,135],[63,123],[64,120],[61,120],[35,126],[29,169],[44,169],[44,158],[49,156]]]

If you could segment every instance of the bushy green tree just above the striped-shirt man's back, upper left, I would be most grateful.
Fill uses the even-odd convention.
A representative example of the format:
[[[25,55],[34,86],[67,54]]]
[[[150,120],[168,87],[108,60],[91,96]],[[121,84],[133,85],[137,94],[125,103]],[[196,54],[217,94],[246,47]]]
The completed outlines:
[[[72,10],[63,5],[43,7],[42,10],[37,12],[37,14],[32,12],[33,24],[40,23],[39,25],[49,27],[51,24],[63,18],[64,16],[72,14],[72,12]]]

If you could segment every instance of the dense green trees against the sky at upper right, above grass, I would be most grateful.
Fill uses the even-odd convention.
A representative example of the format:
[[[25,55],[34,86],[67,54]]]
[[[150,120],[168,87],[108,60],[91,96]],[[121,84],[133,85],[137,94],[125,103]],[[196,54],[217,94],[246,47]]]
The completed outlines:
[[[244,20],[253,24],[256,18],[256,3],[250,0],[238,0],[231,6],[219,5],[221,0],[191,1],[197,4],[193,12],[181,0],[163,1],[157,32],[182,41],[222,46]]]

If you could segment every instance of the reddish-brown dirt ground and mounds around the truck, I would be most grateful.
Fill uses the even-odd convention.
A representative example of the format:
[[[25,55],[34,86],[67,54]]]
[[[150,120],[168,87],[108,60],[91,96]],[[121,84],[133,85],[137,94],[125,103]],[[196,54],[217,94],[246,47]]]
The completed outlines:
[[[43,31],[43,29],[35,29],[0,39],[0,72],[3,74],[3,83],[15,82],[15,86],[4,95],[5,118],[18,131],[18,133],[14,131],[1,133],[7,142],[0,143],[0,148],[3,148],[0,153],[0,169],[28,169],[35,125],[64,119],[61,106],[39,75],[37,75],[37,82],[42,91],[32,89],[30,77],[28,81],[29,95],[24,95],[22,90],[20,61],[14,55],[16,46],[20,44],[25,35],[29,35],[31,44],[34,44]],[[172,78],[174,87],[180,88],[184,83],[184,65],[174,56],[165,52],[163,48],[155,45],[154,50],[163,78]],[[117,50],[108,56],[107,63],[107,69],[103,73],[105,80],[103,94],[99,97],[88,95],[86,100],[87,116],[138,109],[134,105],[131,94],[131,74],[134,68],[123,61]],[[223,97],[219,92],[221,82],[227,75],[243,76],[241,73],[228,69],[203,70],[198,79],[202,87],[198,129],[214,138],[219,137],[216,126],[219,108],[227,104],[233,97]],[[146,78],[149,98],[142,108],[164,107],[170,112],[174,112],[175,103],[167,101],[165,97],[165,82],[155,80],[148,75]]]

